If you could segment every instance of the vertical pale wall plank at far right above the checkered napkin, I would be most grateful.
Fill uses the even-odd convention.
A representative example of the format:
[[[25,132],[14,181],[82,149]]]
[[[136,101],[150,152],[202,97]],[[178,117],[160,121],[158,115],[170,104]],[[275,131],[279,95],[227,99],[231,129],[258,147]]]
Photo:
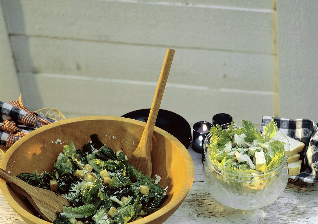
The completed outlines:
[[[277,1],[280,117],[318,122],[317,11],[317,1]]]

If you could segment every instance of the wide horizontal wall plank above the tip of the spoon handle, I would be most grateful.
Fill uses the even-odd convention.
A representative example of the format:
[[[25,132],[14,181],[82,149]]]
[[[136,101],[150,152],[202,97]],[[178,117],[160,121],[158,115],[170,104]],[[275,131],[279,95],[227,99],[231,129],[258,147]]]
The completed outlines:
[[[272,10],[111,0],[3,3],[14,35],[273,54]]]

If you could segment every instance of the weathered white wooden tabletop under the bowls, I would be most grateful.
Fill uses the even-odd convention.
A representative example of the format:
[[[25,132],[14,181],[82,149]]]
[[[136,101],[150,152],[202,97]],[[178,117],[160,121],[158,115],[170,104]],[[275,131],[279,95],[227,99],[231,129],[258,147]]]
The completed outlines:
[[[193,185],[188,196],[176,212],[164,223],[233,223],[226,219],[221,210],[223,205],[216,201],[205,189],[202,178],[201,154],[189,147],[195,168]],[[272,204],[265,207],[264,217],[255,222],[268,223],[318,223],[318,184],[289,180],[285,191]],[[0,194],[0,223],[25,224],[11,209]]]

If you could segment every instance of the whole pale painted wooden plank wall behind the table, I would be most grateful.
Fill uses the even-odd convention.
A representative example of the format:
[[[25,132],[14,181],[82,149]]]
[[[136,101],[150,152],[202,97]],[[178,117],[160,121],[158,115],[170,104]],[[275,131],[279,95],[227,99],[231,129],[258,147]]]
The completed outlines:
[[[276,115],[318,122],[317,2],[279,1],[277,11],[272,0],[0,4],[2,101],[21,92],[30,110],[53,107],[67,118],[149,108],[169,47],[176,53],[161,108],[191,126],[219,112],[237,121]],[[298,13],[297,25],[289,24],[290,12]]]

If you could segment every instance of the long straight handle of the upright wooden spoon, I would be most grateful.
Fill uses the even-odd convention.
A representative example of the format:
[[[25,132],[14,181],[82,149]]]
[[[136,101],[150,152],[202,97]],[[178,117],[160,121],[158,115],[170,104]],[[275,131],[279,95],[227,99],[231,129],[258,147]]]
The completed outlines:
[[[144,140],[145,146],[150,149],[151,141],[152,141],[152,135],[154,132],[154,126],[156,123],[156,119],[159,112],[159,107],[161,104],[164,88],[166,86],[169,71],[171,68],[173,56],[175,54],[175,50],[168,48],[166,52],[166,56],[164,58],[162,69],[158,81],[158,85],[156,88],[154,100],[152,101],[152,105],[149,112],[148,121],[145,127],[144,132],[142,133],[142,140]]]

